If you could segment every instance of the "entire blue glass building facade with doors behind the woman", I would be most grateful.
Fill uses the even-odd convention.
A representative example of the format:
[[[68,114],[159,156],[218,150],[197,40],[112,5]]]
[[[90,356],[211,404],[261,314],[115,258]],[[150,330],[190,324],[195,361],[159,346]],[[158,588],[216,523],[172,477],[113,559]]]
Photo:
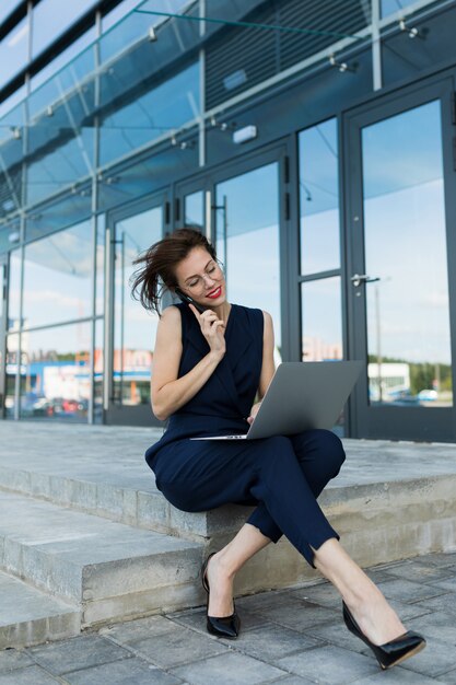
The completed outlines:
[[[1,418],[157,423],[129,279],[191,225],[277,362],[365,362],[340,431],[455,441],[454,25],[445,0],[3,0]]]

